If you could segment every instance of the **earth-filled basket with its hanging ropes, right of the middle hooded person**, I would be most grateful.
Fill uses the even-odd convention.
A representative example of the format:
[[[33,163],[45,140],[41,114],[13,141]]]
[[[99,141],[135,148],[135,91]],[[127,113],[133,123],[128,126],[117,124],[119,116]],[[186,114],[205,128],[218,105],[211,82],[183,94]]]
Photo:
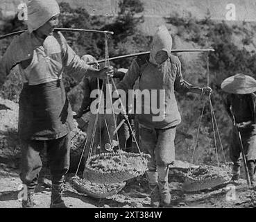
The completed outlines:
[[[209,69],[209,53],[208,53],[207,54],[207,86],[209,86],[209,85],[210,85],[210,69]],[[221,164],[219,161],[216,133],[219,137],[219,142],[221,145],[221,151],[223,152],[223,159],[224,159],[225,165],[228,164],[225,159],[225,152],[224,152],[223,144],[221,142],[221,136],[219,133],[219,127],[218,127],[218,124],[216,121],[216,116],[215,116],[214,108],[212,105],[211,95],[209,95],[207,97],[207,99],[210,103],[212,130],[213,130],[213,135],[214,135],[214,151],[216,153],[216,162],[217,162],[218,167],[200,166],[196,169],[191,168],[191,164],[194,163],[194,156],[195,156],[196,146],[198,144],[198,136],[199,136],[199,132],[200,132],[200,126],[202,123],[203,113],[205,110],[206,99],[203,99],[203,108],[202,108],[202,112],[200,114],[200,121],[198,124],[196,138],[194,140],[194,148],[193,148],[193,152],[191,155],[191,161],[189,162],[189,170],[187,171],[187,173],[185,175],[185,182],[182,185],[182,189],[185,191],[200,191],[200,190],[204,190],[204,189],[212,189],[214,187],[223,185],[226,182],[230,181],[228,173],[221,168]]]

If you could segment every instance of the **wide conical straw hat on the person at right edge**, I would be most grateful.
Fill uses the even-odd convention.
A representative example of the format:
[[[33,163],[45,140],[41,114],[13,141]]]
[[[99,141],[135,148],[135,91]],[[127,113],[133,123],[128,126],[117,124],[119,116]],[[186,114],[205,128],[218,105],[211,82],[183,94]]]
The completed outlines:
[[[236,74],[223,80],[223,91],[232,94],[250,94],[256,91],[256,80],[244,74]]]

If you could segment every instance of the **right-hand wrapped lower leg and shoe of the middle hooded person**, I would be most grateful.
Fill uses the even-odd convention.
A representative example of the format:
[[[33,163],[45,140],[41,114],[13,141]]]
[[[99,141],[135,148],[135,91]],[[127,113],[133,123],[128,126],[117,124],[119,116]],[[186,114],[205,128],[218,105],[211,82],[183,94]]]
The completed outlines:
[[[158,187],[160,191],[160,206],[168,207],[171,204],[171,194],[169,190],[168,174],[169,167],[157,166],[158,172]]]

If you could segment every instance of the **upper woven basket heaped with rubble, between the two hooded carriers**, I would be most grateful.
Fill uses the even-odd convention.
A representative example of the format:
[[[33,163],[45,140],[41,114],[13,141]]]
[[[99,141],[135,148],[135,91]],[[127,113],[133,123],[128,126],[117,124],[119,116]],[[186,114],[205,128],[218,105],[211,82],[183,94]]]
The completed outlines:
[[[149,158],[148,154],[123,151],[93,155],[85,164],[83,177],[91,182],[103,184],[130,180],[145,173]]]

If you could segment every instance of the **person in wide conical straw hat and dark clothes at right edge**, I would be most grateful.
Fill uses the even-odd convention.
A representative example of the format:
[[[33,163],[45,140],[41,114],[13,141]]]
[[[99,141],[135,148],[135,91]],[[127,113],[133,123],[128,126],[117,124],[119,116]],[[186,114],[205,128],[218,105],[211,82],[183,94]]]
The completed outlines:
[[[225,108],[234,123],[230,143],[230,159],[233,162],[232,180],[238,180],[241,166],[241,148],[238,128],[241,133],[249,176],[255,187],[256,160],[256,80],[244,74],[237,74],[223,80],[221,89],[228,92]]]

